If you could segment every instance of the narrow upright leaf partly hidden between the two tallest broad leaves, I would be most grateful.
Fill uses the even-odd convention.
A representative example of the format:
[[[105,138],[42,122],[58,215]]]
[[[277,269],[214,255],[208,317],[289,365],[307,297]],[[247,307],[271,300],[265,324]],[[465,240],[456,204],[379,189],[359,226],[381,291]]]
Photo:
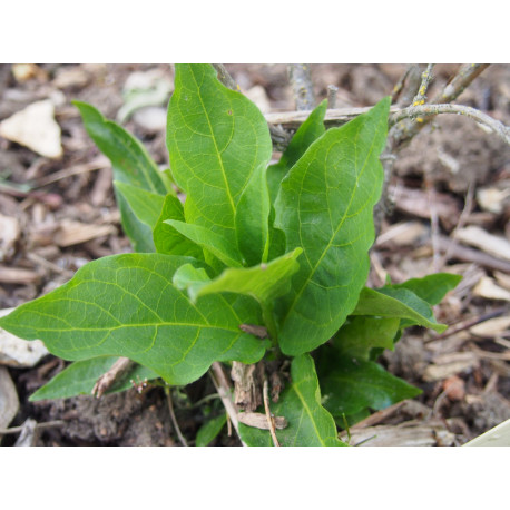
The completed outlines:
[[[279,161],[267,168],[267,184],[269,186],[271,203],[278,194],[279,184],[294,164],[305,154],[306,149],[325,133],[324,116],[326,115],[327,100],[322,101],[300,126],[292,137]]]

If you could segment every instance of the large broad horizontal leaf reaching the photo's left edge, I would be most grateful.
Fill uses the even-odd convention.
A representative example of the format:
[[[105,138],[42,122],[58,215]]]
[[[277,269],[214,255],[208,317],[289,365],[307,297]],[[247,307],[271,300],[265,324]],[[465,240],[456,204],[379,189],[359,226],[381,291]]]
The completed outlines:
[[[193,304],[171,283],[187,263],[200,266],[161,254],[90,262],[66,285],[2,317],[1,327],[42,340],[65,360],[126,356],[176,385],[197,380],[214,361],[261,360],[265,344],[239,330],[259,324],[258,305],[233,294]]]

